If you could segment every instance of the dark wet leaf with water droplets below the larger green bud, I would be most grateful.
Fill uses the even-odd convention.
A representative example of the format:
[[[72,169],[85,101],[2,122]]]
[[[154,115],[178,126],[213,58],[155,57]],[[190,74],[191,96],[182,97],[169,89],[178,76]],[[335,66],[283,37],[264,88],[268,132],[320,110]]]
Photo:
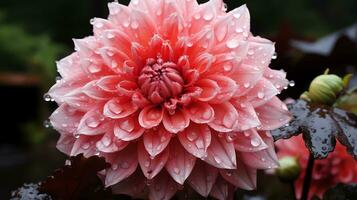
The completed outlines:
[[[300,133],[315,159],[326,158],[335,148],[336,139],[357,159],[357,116],[344,110],[297,100],[290,104],[293,120],[289,126],[272,132],[275,140]]]

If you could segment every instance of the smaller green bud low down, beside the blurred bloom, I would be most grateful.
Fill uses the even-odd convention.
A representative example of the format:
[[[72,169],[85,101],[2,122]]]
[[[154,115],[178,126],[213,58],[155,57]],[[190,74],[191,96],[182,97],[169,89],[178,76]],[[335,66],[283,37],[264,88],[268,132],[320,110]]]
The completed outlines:
[[[275,170],[276,175],[286,182],[295,181],[300,175],[300,164],[297,158],[286,156],[279,159],[279,168]]]

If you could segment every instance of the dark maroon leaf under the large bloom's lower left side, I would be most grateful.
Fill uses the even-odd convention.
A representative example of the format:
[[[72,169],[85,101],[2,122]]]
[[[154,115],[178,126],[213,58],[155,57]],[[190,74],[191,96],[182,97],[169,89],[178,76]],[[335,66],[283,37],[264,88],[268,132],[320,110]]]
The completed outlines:
[[[104,158],[85,158],[82,154],[70,158],[70,165],[55,171],[41,183],[40,191],[50,194],[53,199],[110,199],[110,189],[105,189],[97,173],[109,164]]]

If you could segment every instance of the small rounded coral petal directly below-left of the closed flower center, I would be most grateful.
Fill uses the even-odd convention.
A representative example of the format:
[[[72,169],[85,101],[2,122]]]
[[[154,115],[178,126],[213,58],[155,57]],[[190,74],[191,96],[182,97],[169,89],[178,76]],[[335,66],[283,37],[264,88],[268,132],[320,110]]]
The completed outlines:
[[[147,106],[139,114],[139,123],[144,128],[158,126],[163,118],[164,110],[161,107]]]

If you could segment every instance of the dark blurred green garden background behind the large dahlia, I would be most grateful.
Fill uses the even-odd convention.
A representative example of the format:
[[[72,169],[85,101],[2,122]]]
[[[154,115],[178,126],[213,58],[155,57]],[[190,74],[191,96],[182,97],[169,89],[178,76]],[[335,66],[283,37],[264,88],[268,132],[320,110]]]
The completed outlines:
[[[82,38],[92,33],[89,20],[106,17],[107,2],[0,1],[0,199],[8,198],[10,190],[23,182],[44,179],[63,163],[65,157],[54,147],[58,135],[43,126],[56,105],[44,102],[42,96],[55,83],[55,61],[73,51],[72,38]],[[122,0],[119,2],[128,3]],[[296,66],[299,66],[296,60],[304,55],[304,52],[291,50],[291,39],[314,41],[357,23],[356,0],[225,2],[229,10],[244,3],[248,5],[253,33],[277,42],[279,58],[273,65],[288,72],[294,72]],[[354,48],[357,31],[355,34],[355,39],[347,42]],[[357,52],[349,49],[351,51]],[[355,70],[355,60],[339,62],[351,57],[348,55],[344,58],[344,55],[347,54],[341,53],[333,63],[334,66],[343,67],[343,70],[335,71],[345,73],[351,71],[351,66],[352,71]],[[322,68],[334,67],[325,66],[330,63],[329,57],[319,59],[311,64],[318,67],[312,70],[315,74],[311,76],[322,73]],[[308,63],[304,66],[310,65]],[[300,71],[300,74],[306,73],[306,69]],[[291,77],[299,79],[297,75]],[[297,83],[303,88],[309,81],[305,78],[297,80]],[[300,92],[299,86],[296,90],[285,96],[296,96]]]

